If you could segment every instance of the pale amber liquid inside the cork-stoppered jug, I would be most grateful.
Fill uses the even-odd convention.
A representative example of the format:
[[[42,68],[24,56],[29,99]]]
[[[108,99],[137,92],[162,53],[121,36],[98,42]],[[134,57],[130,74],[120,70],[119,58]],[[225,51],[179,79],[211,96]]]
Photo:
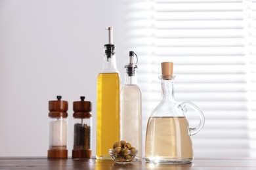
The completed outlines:
[[[146,157],[151,161],[192,160],[192,141],[185,117],[151,117],[146,134]]]

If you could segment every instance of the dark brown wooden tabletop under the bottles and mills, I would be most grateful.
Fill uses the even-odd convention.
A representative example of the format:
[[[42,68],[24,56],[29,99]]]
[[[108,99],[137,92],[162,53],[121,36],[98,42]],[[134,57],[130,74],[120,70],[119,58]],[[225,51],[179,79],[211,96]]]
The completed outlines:
[[[256,159],[195,159],[193,163],[184,165],[154,165],[152,163],[135,162],[126,165],[115,164],[111,160],[83,159],[47,159],[47,158],[0,158],[0,169],[256,169]]]

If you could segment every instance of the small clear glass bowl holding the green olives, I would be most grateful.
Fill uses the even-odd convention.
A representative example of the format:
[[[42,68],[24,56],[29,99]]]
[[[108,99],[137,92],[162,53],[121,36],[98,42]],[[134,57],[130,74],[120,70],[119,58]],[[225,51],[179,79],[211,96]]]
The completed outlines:
[[[108,150],[108,153],[110,154],[112,160],[114,160],[116,163],[131,163],[133,161],[133,158],[138,154],[138,150],[128,150],[127,156],[121,156],[121,154],[116,154],[114,152],[114,149]]]

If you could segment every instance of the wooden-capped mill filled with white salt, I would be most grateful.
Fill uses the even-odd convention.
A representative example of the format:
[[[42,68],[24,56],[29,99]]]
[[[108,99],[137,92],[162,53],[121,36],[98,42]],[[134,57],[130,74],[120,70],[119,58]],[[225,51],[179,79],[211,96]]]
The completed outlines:
[[[62,101],[58,95],[56,101],[49,101],[49,150],[48,158],[68,158],[68,101]]]

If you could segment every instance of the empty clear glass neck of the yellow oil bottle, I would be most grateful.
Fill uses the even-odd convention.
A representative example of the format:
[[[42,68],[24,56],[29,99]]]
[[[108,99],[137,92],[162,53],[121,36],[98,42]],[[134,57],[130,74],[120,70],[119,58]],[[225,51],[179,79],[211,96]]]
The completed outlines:
[[[107,58],[107,56],[104,55],[102,73],[118,73],[116,67],[116,55],[112,55],[111,58]]]

